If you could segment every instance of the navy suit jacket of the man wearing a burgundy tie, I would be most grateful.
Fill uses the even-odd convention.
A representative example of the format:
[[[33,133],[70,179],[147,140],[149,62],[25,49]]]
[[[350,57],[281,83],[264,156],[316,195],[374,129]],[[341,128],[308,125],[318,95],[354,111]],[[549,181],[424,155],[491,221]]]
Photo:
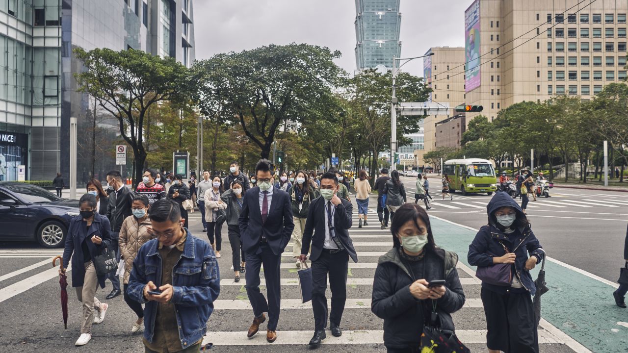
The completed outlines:
[[[244,193],[242,211],[238,219],[242,249],[246,253],[257,253],[259,240],[264,234],[273,254],[280,255],[295,229],[290,197],[287,192],[274,189],[266,223],[262,224],[262,210],[259,207],[260,192],[259,187],[254,187]]]

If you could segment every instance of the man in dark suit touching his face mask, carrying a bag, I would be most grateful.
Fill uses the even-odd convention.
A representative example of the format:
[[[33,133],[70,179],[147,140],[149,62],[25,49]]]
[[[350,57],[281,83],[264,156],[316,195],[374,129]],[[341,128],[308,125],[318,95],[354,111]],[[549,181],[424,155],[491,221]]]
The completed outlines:
[[[353,206],[336,195],[338,178],[325,173],[320,178],[320,197],[313,200],[305,222],[300,260],[305,261],[308,251],[312,261],[312,309],[315,331],[310,345],[318,347],[327,337],[327,274],[332,290],[332,312],[329,315],[332,335],[340,337],[340,319],[347,300],[347,270],[349,257],[357,263],[357,254],[349,237]],[[312,232],[314,233],[312,236]],[[311,250],[310,250],[311,242]]]

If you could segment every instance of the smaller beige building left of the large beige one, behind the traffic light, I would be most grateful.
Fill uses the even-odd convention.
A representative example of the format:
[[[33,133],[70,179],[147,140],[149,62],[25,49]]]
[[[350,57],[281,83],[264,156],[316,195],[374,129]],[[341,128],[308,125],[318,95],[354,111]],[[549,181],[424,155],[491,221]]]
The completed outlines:
[[[437,46],[430,48],[426,55],[430,53],[434,55],[423,59],[423,77],[433,90],[430,100],[443,105],[448,103],[450,107],[465,103],[464,77],[463,75],[455,75],[457,72],[464,71],[465,48]],[[450,109],[448,115],[425,117],[423,122],[424,148],[414,151],[418,165],[424,165],[423,155],[436,147],[436,124],[455,114],[456,112]]]

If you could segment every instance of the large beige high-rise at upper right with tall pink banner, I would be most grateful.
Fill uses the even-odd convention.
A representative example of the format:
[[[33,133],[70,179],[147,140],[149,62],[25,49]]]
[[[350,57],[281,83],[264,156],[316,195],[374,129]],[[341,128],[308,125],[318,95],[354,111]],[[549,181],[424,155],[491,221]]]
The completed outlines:
[[[450,72],[450,77],[465,77],[467,104],[484,106],[482,113],[467,114],[467,124],[479,114],[492,120],[524,100],[556,94],[591,99],[604,85],[625,79],[628,1],[580,1],[470,3],[465,11],[467,71]],[[440,87],[445,81],[438,77],[432,84]]]

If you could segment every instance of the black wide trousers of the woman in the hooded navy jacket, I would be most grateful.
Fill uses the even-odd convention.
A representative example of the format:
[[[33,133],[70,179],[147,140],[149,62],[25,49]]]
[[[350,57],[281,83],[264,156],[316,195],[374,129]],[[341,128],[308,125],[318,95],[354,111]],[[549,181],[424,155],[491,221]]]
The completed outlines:
[[[532,298],[528,293],[495,293],[482,287],[486,347],[506,353],[538,353],[539,340]]]

